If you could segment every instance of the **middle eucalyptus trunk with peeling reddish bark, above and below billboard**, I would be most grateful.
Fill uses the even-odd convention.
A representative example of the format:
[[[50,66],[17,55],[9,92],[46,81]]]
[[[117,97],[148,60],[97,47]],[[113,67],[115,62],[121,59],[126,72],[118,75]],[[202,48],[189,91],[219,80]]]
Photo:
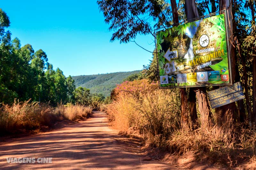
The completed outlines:
[[[188,20],[199,17],[195,0],[185,0],[185,12]],[[196,96],[195,96],[195,93],[192,93],[193,90],[196,93]],[[189,103],[190,103],[190,110],[192,109],[191,118],[197,117],[196,112],[194,112],[194,109],[196,107],[196,97],[197,97],[198,108],[201,115],[201,128],[205,129],[209,126],[209,119],[211,117],[210,106],[209,106],[207,95],[206,95],[206,88],[205,87],[190,88],[190,92],[191,93],[189,93],[189,99],[190,99]]]

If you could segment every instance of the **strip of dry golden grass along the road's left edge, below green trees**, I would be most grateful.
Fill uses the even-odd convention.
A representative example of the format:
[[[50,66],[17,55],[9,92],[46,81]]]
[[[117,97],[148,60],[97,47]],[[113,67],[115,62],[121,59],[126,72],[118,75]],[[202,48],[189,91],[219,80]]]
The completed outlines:
[[[53,108],[49,103],[15,101],[0,108],[0,135],[38,132],[43,126],[51,128],[58,121],[81,119],[91,112],[91,107],[81,105],[61,104]]]

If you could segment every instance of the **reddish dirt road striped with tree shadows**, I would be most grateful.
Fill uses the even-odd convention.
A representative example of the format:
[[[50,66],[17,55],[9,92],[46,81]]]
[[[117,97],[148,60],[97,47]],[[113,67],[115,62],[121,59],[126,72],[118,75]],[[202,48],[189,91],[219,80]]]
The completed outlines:
[[[104,112],[94,112],[88,120],[62,129],[2,142],[0,169],[177,169],[143,160],[145,155],[120,142],[105,120]],[[35,163],[7,163],[6,158],[35,158]],[[52,158],[52,163],[40,163],[40,158]]]

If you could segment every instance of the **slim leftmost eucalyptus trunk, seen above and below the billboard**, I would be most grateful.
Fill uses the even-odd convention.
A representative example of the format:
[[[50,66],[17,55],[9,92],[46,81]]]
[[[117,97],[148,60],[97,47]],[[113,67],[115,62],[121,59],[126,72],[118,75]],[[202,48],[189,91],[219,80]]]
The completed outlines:
[[[179,23],[176,0],[171,0],[173,24]],[[188,128],[188,97],[186,88],[180,88],[180,121],[183,129]]]

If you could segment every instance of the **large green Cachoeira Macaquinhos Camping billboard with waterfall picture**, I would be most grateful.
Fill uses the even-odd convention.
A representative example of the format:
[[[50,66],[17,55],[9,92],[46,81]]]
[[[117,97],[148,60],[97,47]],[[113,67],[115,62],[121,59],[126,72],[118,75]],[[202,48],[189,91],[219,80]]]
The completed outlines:
[[[230,85],[225,15],[156,32],[159,88]]]

